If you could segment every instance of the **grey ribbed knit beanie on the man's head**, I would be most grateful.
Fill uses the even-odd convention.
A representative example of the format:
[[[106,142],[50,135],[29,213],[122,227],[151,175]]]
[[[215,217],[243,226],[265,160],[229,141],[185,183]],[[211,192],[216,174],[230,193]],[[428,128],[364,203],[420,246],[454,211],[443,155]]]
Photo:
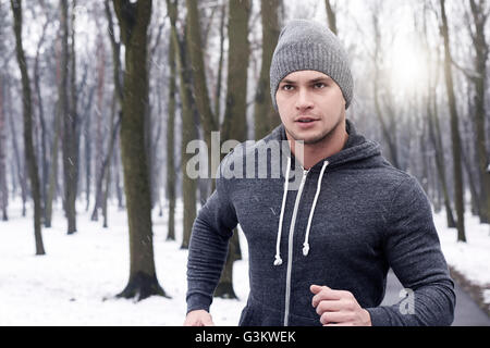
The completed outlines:
[[[303,70],[314,70],[330,76],[342,90],[345,109],[348,108],[354,82],[347,53],[339,39],[326,25],[294,20],[282,29],[270,66],[270,94],[275,110],[275,92],[281,80]]]

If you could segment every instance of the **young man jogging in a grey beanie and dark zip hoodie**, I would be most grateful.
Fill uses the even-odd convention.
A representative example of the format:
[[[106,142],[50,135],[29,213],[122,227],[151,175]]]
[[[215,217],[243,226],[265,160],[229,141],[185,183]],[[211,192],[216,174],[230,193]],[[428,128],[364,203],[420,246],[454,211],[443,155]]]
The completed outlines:
[[[353,78],[336,37],[318,23],[291,22],[270,83],[282,125],[220,165],[192,232],[184,324],[212,325],[212,294],[240,223],[250,282],[241,325],[450,325],[454,284],[430,204],[346,120]],[[274,141],[290,145],[266,157],[269,169],[282,165],[279,178],[230,175]],[[293,189],[292,173],[301,178]],[[379,307],[390,268],[408,307]]]

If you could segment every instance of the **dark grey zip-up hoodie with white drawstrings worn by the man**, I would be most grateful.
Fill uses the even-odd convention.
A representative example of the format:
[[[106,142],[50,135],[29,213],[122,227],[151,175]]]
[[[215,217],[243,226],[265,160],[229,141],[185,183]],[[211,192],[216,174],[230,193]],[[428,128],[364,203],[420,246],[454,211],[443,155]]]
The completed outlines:
[[[240,325],[321,325],[311,306],[313,284],[351,291],[373,325],[452,323],[454,284],[422,188],[390,165],[379,145],[358,135],[348,120],[347,133],[344,149],[309,171],[296,165],[290,151],[269,151],[269,170],[282,169],[277,178],[230,173],[250,154],[264,153],[271,140],[285,140],[282,125],[223,159],[217,189],[192,232],[187,311],[209,311],[240,223],[248,243],[250,285]],[[299,179],[285,181],[298,167]],[[380,307],[390,268],[413,295],[413,311]]]

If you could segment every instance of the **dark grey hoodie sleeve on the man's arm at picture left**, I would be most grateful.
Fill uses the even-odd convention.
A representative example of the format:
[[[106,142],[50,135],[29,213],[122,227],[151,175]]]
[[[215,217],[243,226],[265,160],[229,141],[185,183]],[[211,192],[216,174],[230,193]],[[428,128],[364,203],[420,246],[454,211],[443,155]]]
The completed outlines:
[[[228,158],[220,164],[216,190],[199,210],[193,225],[187,259],[187,313],[199,309],[209,311],[226,260],[229,240],[237,225],[226,189],[228,179],[222,175]]]

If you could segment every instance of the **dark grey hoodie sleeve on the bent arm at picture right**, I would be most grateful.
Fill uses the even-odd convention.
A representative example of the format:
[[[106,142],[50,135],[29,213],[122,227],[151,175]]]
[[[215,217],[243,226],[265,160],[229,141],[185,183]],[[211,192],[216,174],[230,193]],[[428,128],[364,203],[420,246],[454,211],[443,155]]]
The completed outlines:
[[[427,196],[412,176],[394,192],[384,250],[408,297],[391,307],[367,309],[375,326],[445,326],[454,319],[454,283],[449,275]]]

